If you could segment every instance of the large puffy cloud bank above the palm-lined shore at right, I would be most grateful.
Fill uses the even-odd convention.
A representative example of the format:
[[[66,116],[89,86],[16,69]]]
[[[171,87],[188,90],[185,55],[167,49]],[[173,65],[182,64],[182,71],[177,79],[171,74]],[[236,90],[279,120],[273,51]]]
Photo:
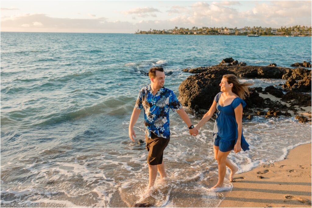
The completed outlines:
[[[242,12],[231,7],[239,4],[237,1],[194,2],[189,12],[183,13],[174,7],[167,12],[175,16],[169,21],[178,27],[311,25],[311,1],[259,1],[253,8]]]

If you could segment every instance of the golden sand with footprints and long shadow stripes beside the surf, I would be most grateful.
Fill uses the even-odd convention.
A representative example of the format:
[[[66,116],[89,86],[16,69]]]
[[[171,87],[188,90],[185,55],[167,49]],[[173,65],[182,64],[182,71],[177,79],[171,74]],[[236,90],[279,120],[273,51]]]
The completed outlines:
[[[234,178],[219,207],[311,207],[311,143],[291,149],[280,162]]]

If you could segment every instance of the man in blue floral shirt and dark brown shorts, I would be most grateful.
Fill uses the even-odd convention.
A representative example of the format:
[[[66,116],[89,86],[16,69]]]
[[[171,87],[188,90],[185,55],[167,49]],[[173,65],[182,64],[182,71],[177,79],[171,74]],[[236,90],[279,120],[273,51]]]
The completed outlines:
[[[129,137],[134,141],[136,135],[133,127],[143,108],[146,127],[146,149],[149,151],[147,157],[149,165],[148,191],[154,186],[157,171],[161,178],[167,177],[163,164],[163,150],[170,140],[169,108],[177,111],[188,126],[190,135],[196,136],[198,134],[198,130],[192,125],[173,91],[163,87],[165,83],[163,68],[151,68],[149,78],[151,84],[140,90],[129,124]]]

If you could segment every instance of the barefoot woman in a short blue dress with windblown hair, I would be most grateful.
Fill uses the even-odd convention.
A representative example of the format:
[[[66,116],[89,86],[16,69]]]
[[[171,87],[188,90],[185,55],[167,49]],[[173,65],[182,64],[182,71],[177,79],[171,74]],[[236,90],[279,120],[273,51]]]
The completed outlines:
[[[214,157],[218,162],[219,178],[217,184],[211,188],[212,191],[226,191],[229,186],[224,186],[224,176],[226,166],[231,169],[230,181],[233,181],[234,174],[238,168],[227,158],[227,155],[234,149],[238,153],[243,149],[249,150],[242,133],[242,113],[246,103],[242,100],[249,96],[251,83],[240,83],[233,74],[223,75],[221,80],[221,92],[219,92],[209,111],[202,117],[196,125],[199,130],[206,123],[213,113],[218,110],[216,122],[213,128],[213,150]]]

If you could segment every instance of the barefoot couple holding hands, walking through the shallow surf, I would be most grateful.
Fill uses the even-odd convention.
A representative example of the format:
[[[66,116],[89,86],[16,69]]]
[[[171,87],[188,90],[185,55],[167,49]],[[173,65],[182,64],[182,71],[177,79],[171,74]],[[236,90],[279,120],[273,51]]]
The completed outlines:
[[[251,83],[240,83],[233,74],[223,75],[219,92],[202,120],[194,127],[183,110],[172,90],[163,87],[165,73],[163,68],[154,67],[149,70],[151,84],[143,87],[136,100],[129,124],[129,137],[134,141],[136,137],[133,130],[134,124],[144,109],[146,149],[149,151],[147,163],[149,166],[149,185],[151,191],[159,172],[161,178],[167,177],[163,164],[163,150],[170,140],[169,110],[177,111],[189,128],[190,135],[197,136],[198,130],[217,111],[217,118],[213,128],[214,158],[218,163],[218,182],[211,188],[212,191],[226,191],[230,187],[225,186],[223,181],[226,166],[230,168],[230,181],[238,168],[231,163],[227,155],[234,150],[238,153],[249,150],[248,144],[242,134],[242,112],[246,103],[242,100],[249,96]]]

